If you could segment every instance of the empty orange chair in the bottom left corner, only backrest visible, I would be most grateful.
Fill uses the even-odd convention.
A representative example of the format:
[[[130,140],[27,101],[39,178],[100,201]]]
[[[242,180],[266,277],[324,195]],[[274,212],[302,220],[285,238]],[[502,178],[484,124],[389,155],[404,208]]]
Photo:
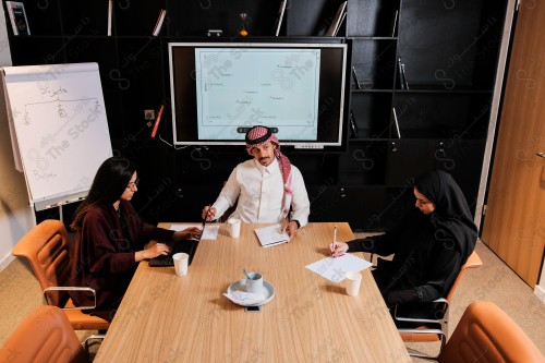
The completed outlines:
[[[21,323],[0,349],[0,362],[88,362],[88,354],[57,306],[39,306]]]

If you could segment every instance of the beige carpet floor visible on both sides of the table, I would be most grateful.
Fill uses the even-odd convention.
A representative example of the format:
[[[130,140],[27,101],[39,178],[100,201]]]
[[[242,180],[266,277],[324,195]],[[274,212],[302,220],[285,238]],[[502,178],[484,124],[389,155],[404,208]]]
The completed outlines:
[[[451,303],[450,331],[465,306],[473,301],[488,300],[507,312],[545,354],[545,304],[485,244],[479,242],[476,251],[483,267],[470,269],[456,291]],[[33,271],[26,263],[15,259],[0,273],[0,347],[17,324],[40,304],[40,289]],[[83,339],[88,334],[80,331],[78,336]],[[431,344],[412,343],[410,347],[428,353],[436,349]]]

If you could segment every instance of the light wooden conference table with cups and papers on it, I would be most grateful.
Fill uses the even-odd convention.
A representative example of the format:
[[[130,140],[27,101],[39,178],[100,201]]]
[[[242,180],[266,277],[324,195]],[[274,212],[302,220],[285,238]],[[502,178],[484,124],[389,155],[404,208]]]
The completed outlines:
[[[335,225],[338,241],[354,238],[348,223],[310,223],[264,249],[254,229],[267,225],[243,223],[232,239],[221,223],[186,276],[142,262],[95,362],[411,362],[368,269],[352,298],[305,268],[326,256]],[[243,268],[275,287],[262,312],[222,295]]]

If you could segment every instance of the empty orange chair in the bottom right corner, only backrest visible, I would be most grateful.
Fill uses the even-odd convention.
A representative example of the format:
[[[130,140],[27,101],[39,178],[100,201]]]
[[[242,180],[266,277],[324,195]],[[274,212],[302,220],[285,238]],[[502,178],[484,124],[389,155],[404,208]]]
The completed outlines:
[[[440,363],[544,363],[534,342],[489,301],[471,303],[441,351]]]

